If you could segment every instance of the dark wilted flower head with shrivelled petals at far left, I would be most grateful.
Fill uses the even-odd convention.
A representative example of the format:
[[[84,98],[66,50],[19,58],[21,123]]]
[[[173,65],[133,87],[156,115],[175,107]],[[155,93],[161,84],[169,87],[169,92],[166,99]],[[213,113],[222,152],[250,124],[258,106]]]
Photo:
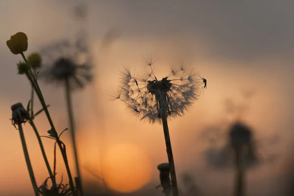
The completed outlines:
[[[11,106],[12,118],[11,123],[16,124],[25,123],[29,119],[29,113],[25,110],[22,103],[16,103]]]

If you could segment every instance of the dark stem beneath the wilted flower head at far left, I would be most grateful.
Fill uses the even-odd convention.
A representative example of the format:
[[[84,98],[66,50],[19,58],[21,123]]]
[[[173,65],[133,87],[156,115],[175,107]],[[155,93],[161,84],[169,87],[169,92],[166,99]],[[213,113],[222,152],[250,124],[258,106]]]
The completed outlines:
[[[28,170],[28,173],[29,173],[29,177],[30,177],[32,186],[33,186],[33,190],[34,190],[35,196],[39,196],[38,186],[37,186],[37,183],[36,183],[36,178],[35,178],[35,175],[34,175],[34,172],[33,172],[33,168],[32,168],[32,165],[31,165],[31,162],[30,162],[30,159],[29,159],[29,156],[28,156],[27,147],[26,147],[26,144],[25,144],[25,135],[24,135],[22,124],[19,124],[19,132],[20,132],[22,146],[23,146],[23,150],[24,150],[24,154],[25,154],[25,163],[26,163],[26,167],[27,167],[27,170]]]

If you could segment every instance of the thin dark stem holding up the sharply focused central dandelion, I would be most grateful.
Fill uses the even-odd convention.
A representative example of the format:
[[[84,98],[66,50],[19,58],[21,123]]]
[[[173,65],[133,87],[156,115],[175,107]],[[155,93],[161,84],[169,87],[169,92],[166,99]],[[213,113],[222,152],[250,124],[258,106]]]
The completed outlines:
[[[174,161],[173,161],[173,155],[172,155],[172,144],[171,144],[171,138],[170,138],[170,132],[169,132],[169,126],[168,126],[166,112],[163,112],[161,119],[162,119],[164,138],[165,138],[165,142],[166,142],[168,159],[169,159],[169,164],[170,164],[170,172],[171,172],[171,180],[172,180],[172,196],[178,196],[175,167],[174,167]]]

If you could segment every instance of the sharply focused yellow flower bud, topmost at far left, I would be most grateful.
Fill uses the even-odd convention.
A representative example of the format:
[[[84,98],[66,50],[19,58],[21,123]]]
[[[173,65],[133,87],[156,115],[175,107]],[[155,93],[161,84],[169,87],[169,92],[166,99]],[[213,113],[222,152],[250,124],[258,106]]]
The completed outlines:
[[[20,54],[27,50],[27,36],[23,32],[18,32],[6,41],[6,45],[14,54]]]

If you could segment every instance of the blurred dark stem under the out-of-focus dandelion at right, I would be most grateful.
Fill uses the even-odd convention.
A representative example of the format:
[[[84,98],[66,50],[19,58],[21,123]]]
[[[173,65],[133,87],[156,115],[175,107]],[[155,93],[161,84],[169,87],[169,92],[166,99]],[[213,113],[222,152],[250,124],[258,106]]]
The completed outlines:
[[[243,151],[242,147],[235,149],[236,154],[236,179],[234,196],[244,196],[244,168],[243,168]]]

